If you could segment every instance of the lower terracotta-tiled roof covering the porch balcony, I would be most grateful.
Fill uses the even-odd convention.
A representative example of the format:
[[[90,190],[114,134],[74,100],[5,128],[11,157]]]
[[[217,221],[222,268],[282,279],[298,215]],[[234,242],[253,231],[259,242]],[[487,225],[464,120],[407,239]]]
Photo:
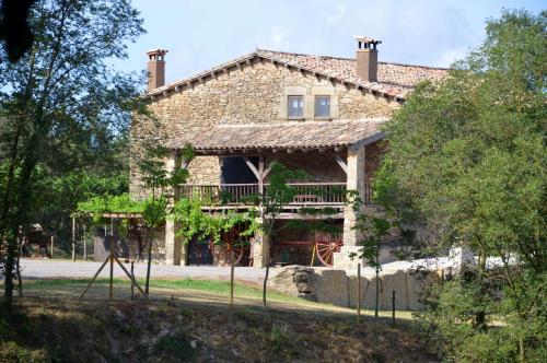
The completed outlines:
[[[182,149],[191,144],[198,153],[244,150],[296,150],[368,144],[384,137],[386,118],[279,124],[218,125],[209,129],[182,131],[166,145]]]

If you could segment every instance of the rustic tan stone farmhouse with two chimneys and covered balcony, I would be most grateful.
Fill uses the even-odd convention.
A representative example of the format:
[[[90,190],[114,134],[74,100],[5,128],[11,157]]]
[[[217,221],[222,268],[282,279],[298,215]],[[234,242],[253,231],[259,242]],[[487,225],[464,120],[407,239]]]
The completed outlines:
[[[344,246],[340,250],[341,243],[329,244],[335,250],[327,262],[344,266],[348,253],[357,248],[356,214],[329,190],[357,190],[372,208],[370,182],[382,153],[382,124],[418,82],[446,73],[440,68],[377,61],[380,43],[357,37],[354,59],[257,49],[166,85],[166,50],[151,50],[143,97],[160,125],[135,118],[132,147],[155,130],[163,132],[161,140],[172,150],[166,167],[176,167],[177,150],[190,143],[197,156],[188,165],[187,185],[178,190],[188,195],[229,190],[237,198],[261,192],[275,161],[305,171],[312,180],[296,187],[313,186],[324,197],[295,198],[279,223],[299,218],[303,206],[337,209],[334,220],[344,231]],[[131,167],[130,188],[133,195],[141,192],[136,167]],[[186,265],[191,246],[182,244],[174,229],[173,222],[166,223],[165,261]],[[313,238],[295,231],[284,231],[274,241],[255,236],[249,257],[255,267],[263,267],[279,259],[274,256],[277,247]]]

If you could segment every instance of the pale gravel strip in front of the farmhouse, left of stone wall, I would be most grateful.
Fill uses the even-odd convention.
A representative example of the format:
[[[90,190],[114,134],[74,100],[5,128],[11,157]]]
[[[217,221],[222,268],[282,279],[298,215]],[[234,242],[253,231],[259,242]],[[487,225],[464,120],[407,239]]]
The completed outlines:
[[[92,278],[101,267],[102,262],[49,260],[49,259],[21,259],[21,274],[23,279],[46,279],[46,278]],[[125,264],[129,270],[130,265]],[[252,267],[236,267],[235,279],[238,281],[260,282],[264,279],[265,269]],[[109,266],[105,266],[100,277],[109,276]],[[125,277],[126,274],[115,262],[114,276]],[[135,276],[144,278],[147,276],[146,264],[135,264]],[[230,268],[213,266],[168,266],[152,265],[151,276],[154,278],[209,278],[229,279]]]

